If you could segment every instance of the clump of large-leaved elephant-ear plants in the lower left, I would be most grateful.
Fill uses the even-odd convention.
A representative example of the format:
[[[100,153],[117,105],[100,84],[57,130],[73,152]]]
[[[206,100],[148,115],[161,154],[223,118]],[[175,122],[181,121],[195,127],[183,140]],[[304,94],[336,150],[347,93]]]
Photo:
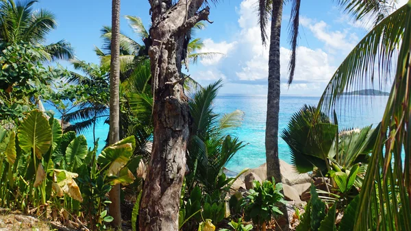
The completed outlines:
[[[97,145],[87,149],[84,136],[62,134],[56,119],[33,110],[18,127],[17,137],[14,130],[0,128],[0,206],[82,212],[79,219],[88,221],[90,229],[104,229],[112,221],[105,210],[110,204],[107,193],[112,185],[135,179],[128,169],[136,171],[134,163],[140,160],[130,159],[134,147],[130,136],[106,147],[97,159]]]

